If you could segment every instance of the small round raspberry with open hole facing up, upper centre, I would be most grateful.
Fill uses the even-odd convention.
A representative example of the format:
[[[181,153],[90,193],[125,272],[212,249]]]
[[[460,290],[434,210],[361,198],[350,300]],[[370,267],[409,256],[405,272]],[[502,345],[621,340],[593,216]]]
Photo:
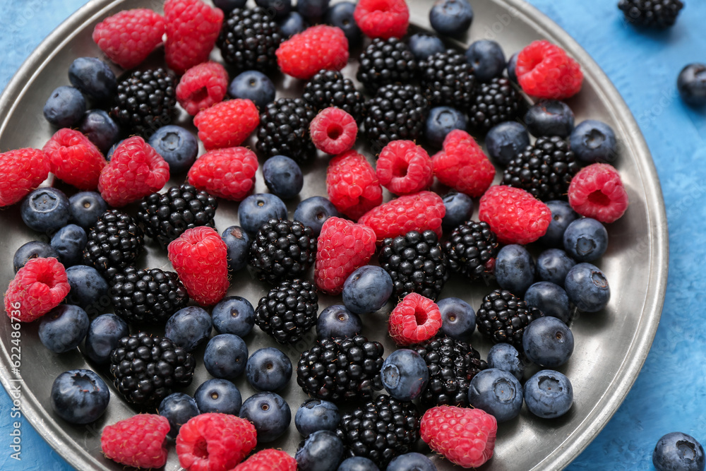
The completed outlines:
[[[358,136],[358,124],[342,109],[329,107],[322,109],[311,120],[309,135],[318,150],[337,155],[353,147]]]

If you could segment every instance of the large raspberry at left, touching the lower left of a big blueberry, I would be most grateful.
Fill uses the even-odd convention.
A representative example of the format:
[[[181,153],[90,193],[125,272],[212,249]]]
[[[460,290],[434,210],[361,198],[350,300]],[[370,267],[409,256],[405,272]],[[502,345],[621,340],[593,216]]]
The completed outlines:
[[[113,151],[100,172],[98,191],[106,203],[119,208],[160,191],[167,180],[169,164],[143,138],[133,136]]]

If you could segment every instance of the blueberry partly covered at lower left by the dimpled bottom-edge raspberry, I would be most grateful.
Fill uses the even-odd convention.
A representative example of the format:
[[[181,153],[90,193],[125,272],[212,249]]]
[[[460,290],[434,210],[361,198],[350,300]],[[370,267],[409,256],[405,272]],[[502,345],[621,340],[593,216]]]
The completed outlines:
[[[270,392],[247,398],[240,408],[240,417],[253,423],[258,432],[258,443],[277,440],[292,422],[289,405],[279,394]]]

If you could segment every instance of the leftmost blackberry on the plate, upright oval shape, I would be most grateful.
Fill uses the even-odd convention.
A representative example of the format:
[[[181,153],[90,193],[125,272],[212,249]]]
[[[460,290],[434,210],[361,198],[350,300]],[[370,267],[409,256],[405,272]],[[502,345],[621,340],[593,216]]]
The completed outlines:
[[[88,231],[83,260],[109,279],[133,265],[144,248],[145,236],[137,222],[121,210],[110,209]]]

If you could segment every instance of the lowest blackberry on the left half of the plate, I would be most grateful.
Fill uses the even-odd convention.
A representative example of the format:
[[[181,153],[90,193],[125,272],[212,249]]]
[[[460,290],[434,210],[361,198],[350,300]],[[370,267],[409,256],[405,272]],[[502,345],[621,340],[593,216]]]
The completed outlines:
[[[157,407],[172,388],[189,386],[196,362],[172,340],[140,332],[126,335],[110,354],[113,384],[128,401]]]

